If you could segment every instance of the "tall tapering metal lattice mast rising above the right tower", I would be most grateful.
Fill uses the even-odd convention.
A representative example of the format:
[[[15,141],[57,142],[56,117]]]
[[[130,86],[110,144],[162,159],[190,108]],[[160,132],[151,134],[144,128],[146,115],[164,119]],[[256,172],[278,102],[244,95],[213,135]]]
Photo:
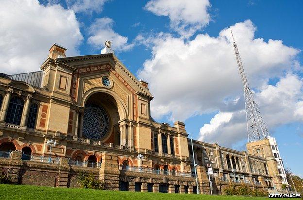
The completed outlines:
[[[262,140],[269,136],[269,132],[260,114],[257,103],[253,99],[253,92],[250,90],[246,75],[244,73],[243,63],[241,61],[240,53],[233,36],[233,46],[236,55],[236,61],[238,63],[241,79],[244,85],[244,101],[246,110],[246,124],[247,124],[247,136],[248,142]]]

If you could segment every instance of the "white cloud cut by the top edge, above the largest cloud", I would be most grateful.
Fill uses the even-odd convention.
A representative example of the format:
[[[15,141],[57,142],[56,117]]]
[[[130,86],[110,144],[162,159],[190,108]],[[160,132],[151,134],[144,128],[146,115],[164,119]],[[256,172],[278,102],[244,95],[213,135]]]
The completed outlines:
[[[145,9],[158,16],[168,16],[170,27],[180,35],[189,37],[208,25],[208,0],[151,0]]]

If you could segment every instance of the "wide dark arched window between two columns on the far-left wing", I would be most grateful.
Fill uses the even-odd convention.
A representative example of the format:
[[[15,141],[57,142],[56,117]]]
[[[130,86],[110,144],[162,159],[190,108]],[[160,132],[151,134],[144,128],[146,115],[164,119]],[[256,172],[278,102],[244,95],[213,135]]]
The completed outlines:
[[[20,125],[24,102],[20,97],[13,97],[10,100],[5,121],[10,124]]]

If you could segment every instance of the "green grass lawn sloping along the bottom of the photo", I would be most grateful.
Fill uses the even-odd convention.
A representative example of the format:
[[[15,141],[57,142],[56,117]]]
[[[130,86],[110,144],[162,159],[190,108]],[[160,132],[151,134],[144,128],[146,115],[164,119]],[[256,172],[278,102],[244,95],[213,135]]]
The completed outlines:
[[[151,192],[122,192],[78,188],[53,188],[32,185],[0,184],[0,199],[103,199],[103,200],[261,200],[263,197],[238,197],[226,195],[164,194]]]

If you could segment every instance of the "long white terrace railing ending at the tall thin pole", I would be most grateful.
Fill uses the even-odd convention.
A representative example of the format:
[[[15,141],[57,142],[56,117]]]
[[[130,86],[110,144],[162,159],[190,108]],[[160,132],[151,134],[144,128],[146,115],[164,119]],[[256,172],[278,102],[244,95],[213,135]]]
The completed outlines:
[[[176,171],[169,171],[169,170],[157,170],[157,169],[150,169],[150,168],[140,168],[134,166],[126,166],[123,167],[119,165],[119,169],[123,171],[133,171],[133,172],[142,172],[142,173],[151,173],[151,174],[160,174],[160,175],[169,175],[169,176],[181,176],[181,177],[193,177],[191,173],[185,172],[176,172]]]

